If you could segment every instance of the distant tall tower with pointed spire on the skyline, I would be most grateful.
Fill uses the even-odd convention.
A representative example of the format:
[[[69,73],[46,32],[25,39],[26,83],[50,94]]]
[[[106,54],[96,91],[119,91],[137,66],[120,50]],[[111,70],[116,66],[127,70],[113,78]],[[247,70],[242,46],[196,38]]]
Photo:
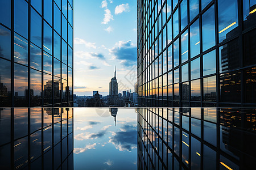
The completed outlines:
[[[114,77],[109,83],[109,96],[111,97],[111,104],[117,104],[118,98],[118,83],[117,83],[117,71],[114,72]]]

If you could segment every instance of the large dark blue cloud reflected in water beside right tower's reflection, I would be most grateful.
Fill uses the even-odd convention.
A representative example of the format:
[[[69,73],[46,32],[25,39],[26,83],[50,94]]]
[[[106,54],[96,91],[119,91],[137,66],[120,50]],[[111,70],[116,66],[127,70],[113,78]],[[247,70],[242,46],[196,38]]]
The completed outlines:
[[[137,148],[137,128],[133,125],[124,125],[121,131],[112,132],[109,142],[112,143],[119,151],[131,151]]]

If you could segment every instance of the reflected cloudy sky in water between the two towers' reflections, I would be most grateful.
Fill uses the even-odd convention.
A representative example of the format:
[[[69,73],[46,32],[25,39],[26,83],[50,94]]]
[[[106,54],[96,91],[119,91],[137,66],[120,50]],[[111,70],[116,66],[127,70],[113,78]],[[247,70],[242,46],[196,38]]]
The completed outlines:
[[[118,109],[75,109],[75,169],[136,169],[137,113]]]

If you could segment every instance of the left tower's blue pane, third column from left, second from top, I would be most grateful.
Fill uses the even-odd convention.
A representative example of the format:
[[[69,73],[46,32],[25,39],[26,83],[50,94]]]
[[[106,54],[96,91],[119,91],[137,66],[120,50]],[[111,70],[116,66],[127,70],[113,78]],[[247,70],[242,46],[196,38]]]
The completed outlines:
[[[31,8],[31,42],[37,46],[42,46],[42,18]]]

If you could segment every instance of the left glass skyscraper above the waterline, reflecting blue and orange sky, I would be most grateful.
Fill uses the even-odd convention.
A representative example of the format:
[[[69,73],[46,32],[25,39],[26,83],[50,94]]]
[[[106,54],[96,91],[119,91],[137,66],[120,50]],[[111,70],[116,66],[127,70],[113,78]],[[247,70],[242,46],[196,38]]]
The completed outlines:
[[[0,107],[73,103],[73,1],[0,2]]]

